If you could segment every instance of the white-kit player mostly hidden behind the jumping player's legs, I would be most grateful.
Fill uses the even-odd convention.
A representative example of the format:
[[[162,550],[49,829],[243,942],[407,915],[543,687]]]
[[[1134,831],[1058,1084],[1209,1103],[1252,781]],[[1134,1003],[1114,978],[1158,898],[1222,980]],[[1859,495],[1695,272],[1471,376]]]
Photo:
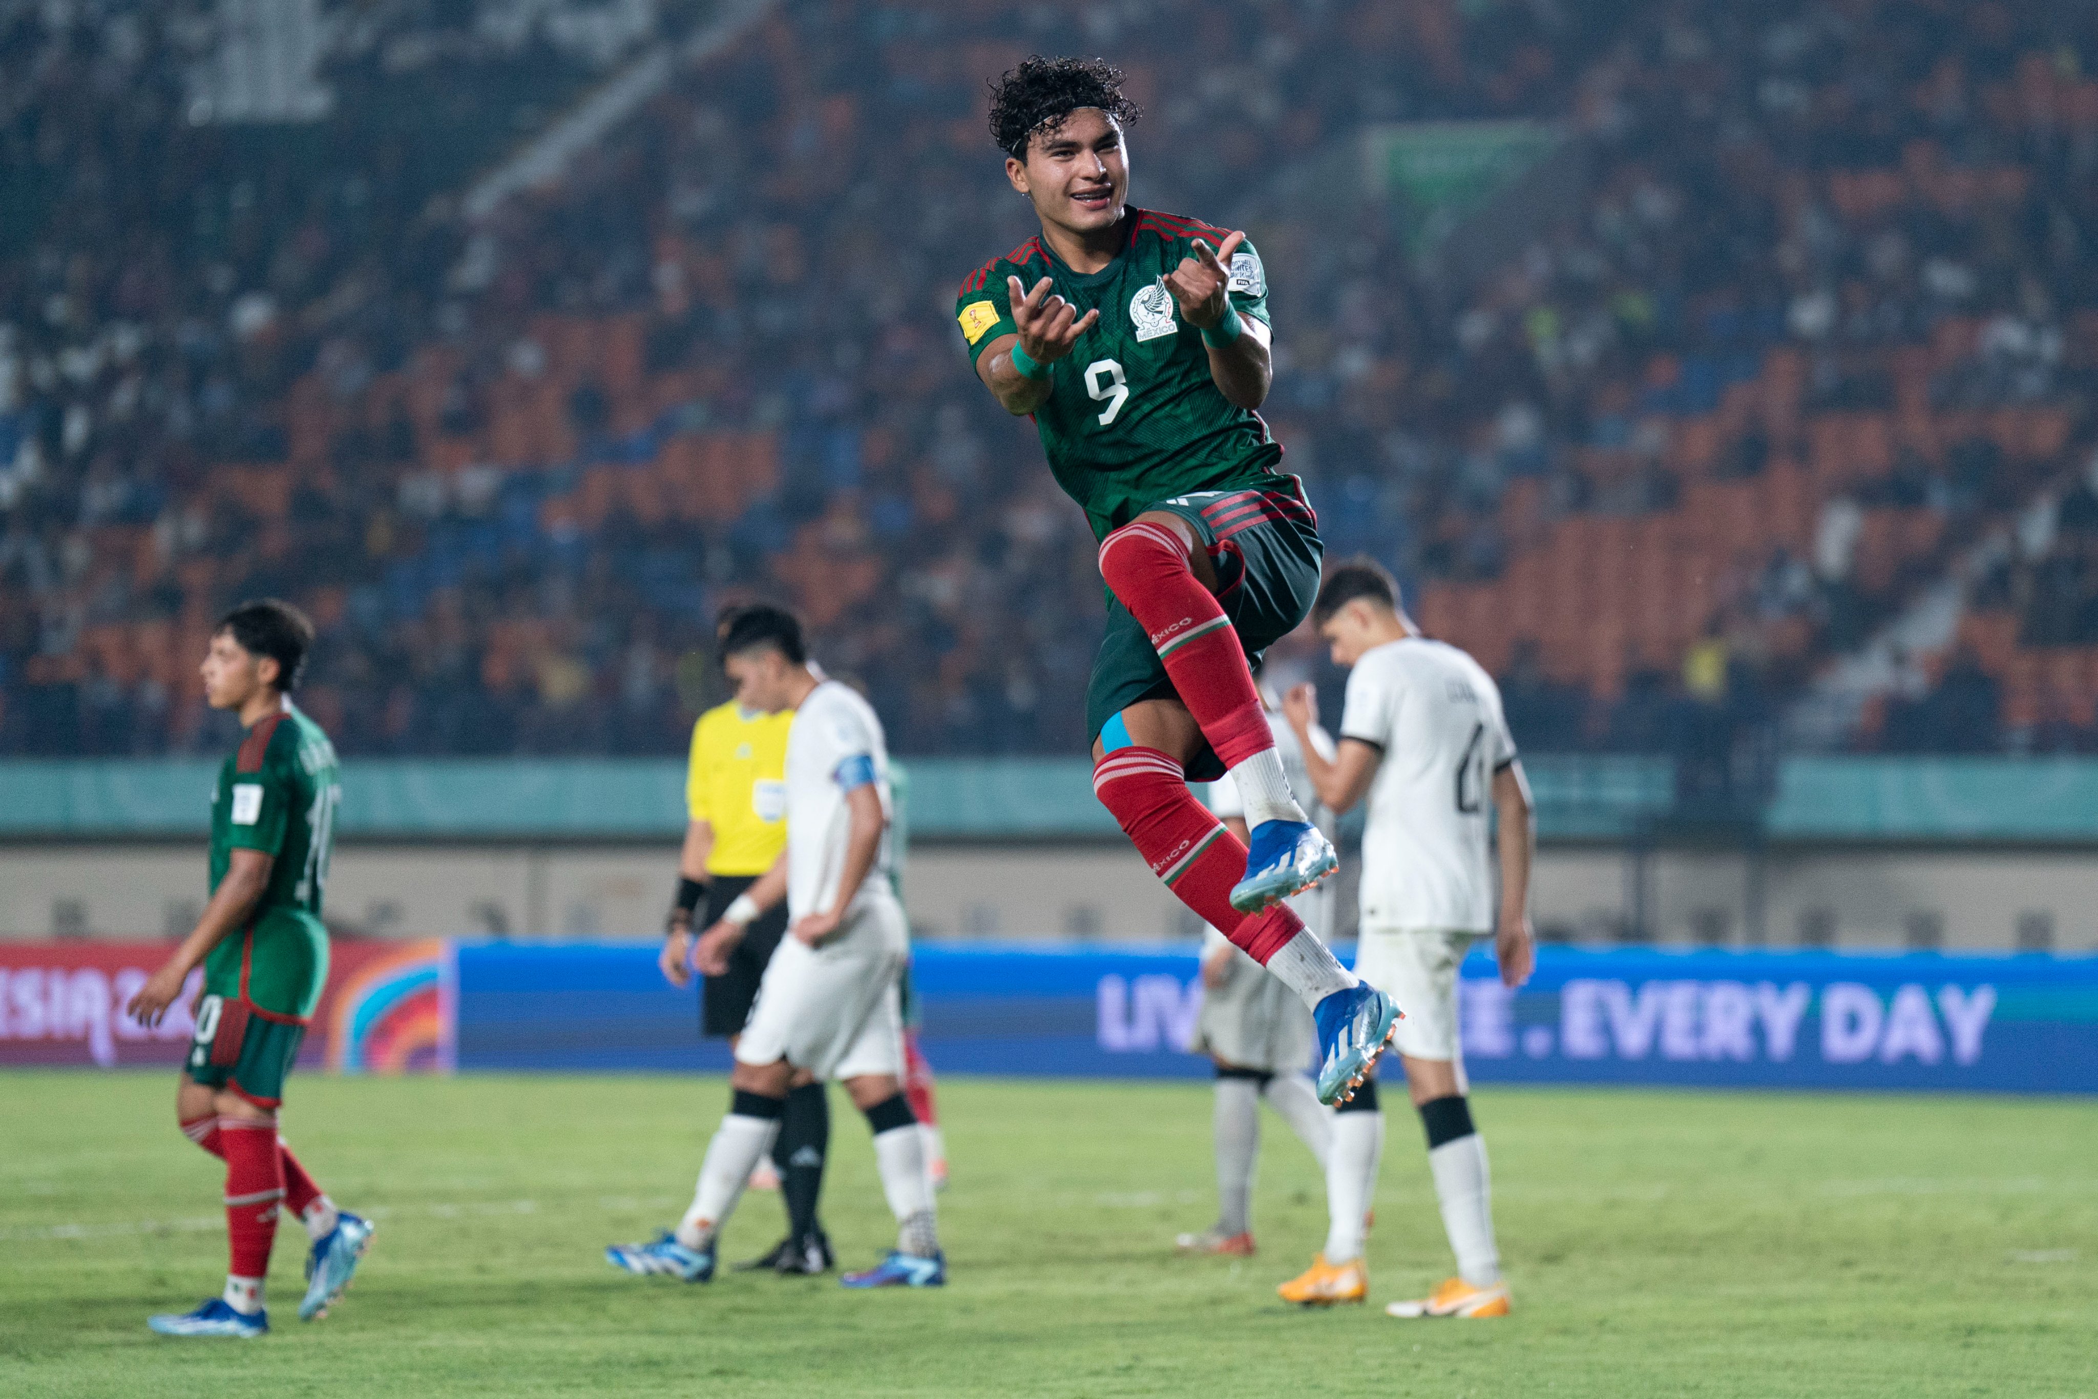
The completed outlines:
[[[1267,701],[1267,724],[1276,734],[1276,755],[1290,780],[1290,791],[1311,791],[1297,734]],[[1332,755],[1332,738],[1324,730],[1311,734]],[[1208,784],[1208,810],[1238,839],[1246,839],[1246,805],[1229,776]],[[1332,816],[1315,803],[1307,816],[1326,839],[1332,839]],[[1330,885],[1318,885],[1288,900],[1297,917],[1318,940],[1328,935]],[[1217,1223],[1208,1233],[1179,1235],[1181,1252],[1250,1254],[1253,1252],[1253,1177],[1261,1152],[1261,1099],[1282,1114],[1290,1131],[1326,1170],[1332,1141],[1332,1114],[1318,1101],[1311,1086],[1311,1053],[1318,1032],[1311,1011],[1280,977],[1240,952],[1217,929],[1202,940],[1202,1011],[1194,1024],[1187,1049],[1208,1055],[1217,1066],[1215,1145],[1217,1145]]]

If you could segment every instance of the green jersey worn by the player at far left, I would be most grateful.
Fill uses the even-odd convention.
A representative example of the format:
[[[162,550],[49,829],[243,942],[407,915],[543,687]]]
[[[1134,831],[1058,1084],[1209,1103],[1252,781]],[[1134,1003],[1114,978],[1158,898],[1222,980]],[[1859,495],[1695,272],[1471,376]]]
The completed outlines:
[[[336,745],[292,701],[248,730],[212,791],[212,891],[235,849],[273,856],[248,925],[212,948],[204,988],[243,996],[279,1019],[313,1015],[327,982],[321,889],[336,837],[342,770]]]

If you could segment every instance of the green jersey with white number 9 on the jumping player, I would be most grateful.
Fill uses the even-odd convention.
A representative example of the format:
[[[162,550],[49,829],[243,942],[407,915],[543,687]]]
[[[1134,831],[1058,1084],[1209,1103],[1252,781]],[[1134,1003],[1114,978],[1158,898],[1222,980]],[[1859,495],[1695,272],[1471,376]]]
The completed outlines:
[[[1099,539],[1175,495],[1280,485],[1282,447],[1259,413],[1217,388],[1202,331],[1179,317],[1162,281],[1194,256],[1196,239],[1217,250],[1225,237],[1194,218],[1131,208],[1122,252],[1097,273],[1070,271],[1030,237],[961,283],[955,319],[971,365],[1015,333],[1007,277],[1022,292],[1051,277],[1080,317],[1099,310],[1099,323],[1051,365],[1051,394],[1034,411],[1049,470]],[[1232,254],[1229,277],[1232,304],[1265,323],[1267,275],[1250,241]]]

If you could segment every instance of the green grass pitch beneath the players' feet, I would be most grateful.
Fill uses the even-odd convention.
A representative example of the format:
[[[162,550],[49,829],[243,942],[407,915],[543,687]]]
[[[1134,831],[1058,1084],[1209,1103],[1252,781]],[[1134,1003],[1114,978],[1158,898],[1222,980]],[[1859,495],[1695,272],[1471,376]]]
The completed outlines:
[[[218,1290],[216,1162],[172,1074],[0,1076],[6,1395],[2081,1395],[2098,1393],[2098,1112],[2071,1101],[1477,1095],[1515,1317],[1393,1321],[1448,1271],[1420,1135],[1393,1114],[1372,1307],[1273,1286],[1324,1237],[1303,1147],[1265,1118],[1250,1261],[1175,1258],[1211,1223],[1206,1084],[948,1080],[944,1292],[615,1273],[673,1221],[726,1091],[688,1078],[294,1080],[285,1133],[380,1217],[357,1288],[275,1334],[162,1340]],[[825,1214],[892,1240],[864,1122],[833,1093]],[[745,1198],[726,1258],[772,1244]]]

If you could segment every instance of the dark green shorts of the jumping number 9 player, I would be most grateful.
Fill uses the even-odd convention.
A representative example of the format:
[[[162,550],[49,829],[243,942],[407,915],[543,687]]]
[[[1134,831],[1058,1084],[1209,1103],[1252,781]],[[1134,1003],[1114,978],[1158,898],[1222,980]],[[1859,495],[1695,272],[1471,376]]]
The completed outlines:
[[[1246,661],[1255,665],[1261,652],[1294,631],[1311,612],[1320,564],[1326,558],[1318,518],[1297,480],[1288,482],[1288,489],[1202,491],[1150,505],[1194,524],[1223,585],[1217,602],[1223,604],[1238,644],[1246,648]],[[1118,598],[1108,598],[1108,636],[1099,642],[1093,680],[1085,688],[1087,742],[1099,738],[1108,719],[1137,701],[1173,694],[1173,680],[1152,638]],[[1221,776],[1223,763],[1204,745],[1190,763],[1187,778],[1213,782]]]

